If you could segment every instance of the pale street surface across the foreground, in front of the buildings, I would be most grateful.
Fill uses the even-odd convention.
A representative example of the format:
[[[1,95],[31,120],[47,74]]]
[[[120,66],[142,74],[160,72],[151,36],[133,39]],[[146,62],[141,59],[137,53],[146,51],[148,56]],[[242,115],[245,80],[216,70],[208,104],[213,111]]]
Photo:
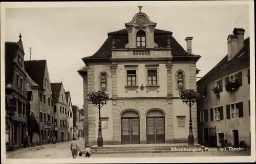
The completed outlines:
[[[84,140],[78,141],[80,149],[84,148]],[[248,156],[250,151],[204,151],[204,152],[171,152],[171,153],[135,153],[135,154],[93,154],[91,158],[130,158],[130,157],[187,157],[187,156]],[[70,142],[48,144],[7,153],[7,159],[22,158],[72,158]],[[77,156],[77,158],[85,158]]]

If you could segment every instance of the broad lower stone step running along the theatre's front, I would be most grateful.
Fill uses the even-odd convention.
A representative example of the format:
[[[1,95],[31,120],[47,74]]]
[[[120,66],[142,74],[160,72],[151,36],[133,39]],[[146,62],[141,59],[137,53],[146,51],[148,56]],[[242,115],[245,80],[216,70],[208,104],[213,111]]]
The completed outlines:
[[[197,148],[197,149],[179,149],[176,151],[175,150],[171,150],[171,149],[163,149],[163,150],[105,150],[105,151],[92,151],[92,154],[132,154],[132,153],[170,153],[170,152],[202,152],[205,151],[204,147],[202,147],[201,149]]]

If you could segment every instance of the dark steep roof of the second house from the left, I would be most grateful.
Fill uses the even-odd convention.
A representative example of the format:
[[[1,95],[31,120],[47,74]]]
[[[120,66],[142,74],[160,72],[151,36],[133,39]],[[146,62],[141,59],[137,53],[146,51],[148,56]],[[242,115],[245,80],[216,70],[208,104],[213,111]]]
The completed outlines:
[[[44,88],[46,60],[24,61],[24,63],[25,69],[31,79],[35,81],[40,88]]]

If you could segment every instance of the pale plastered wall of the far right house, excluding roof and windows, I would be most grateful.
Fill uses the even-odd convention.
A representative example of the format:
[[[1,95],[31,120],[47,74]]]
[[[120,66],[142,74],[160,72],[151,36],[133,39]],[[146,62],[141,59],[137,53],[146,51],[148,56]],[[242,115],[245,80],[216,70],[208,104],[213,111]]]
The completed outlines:
[[[210,112],[208,111],[208,121],[200,122],[200,128],[204,127],[214,127],[216,126],[217,133],[224,133],[225,139],[228,140],[229,143],[232,143],[232,129],[239,130],[239,141],[245,141],[247,145],[250,145],[250,116],[249,116],[249,100],[250,100],[250,85],[248,84],[247,79],[247,70],[248,68],[244,68],[237,72],[233,72],[232,74],[236,74],[242,71],[242,86],[234,92],[226,92],[225,91],[225,78],[232,74],[223,76],[215,81],[220,79],[223,80],[223,92],[220,93],[220,100],[216,100],[215,94],[211,91],[213,88],[213,83],[207,85],[207,97],[204,98],[202,103],[202,107],[200,110],[209,110],[213,107],[223,106],[223,120],[219,121],[210,121]],[[227,119],[226,114],[226,105],[243,102],[243,117],[242,118],[231,118]]]

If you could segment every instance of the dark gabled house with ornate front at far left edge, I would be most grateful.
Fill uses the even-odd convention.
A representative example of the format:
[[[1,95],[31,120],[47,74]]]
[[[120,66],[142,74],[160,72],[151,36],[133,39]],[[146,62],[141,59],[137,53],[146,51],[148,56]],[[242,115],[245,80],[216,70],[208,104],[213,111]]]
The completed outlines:
[[[27,135],[27,74],[22,36],[18,42],[5,42],[6,142],[13,149],[23,146]]]

